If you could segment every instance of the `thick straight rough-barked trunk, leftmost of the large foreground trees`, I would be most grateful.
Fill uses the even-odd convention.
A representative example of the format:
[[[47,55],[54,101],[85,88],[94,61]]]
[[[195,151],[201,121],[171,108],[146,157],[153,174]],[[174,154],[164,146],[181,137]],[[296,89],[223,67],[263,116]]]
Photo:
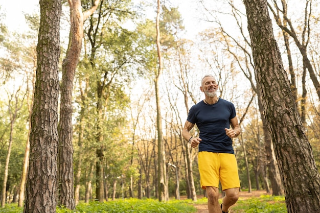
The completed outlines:
[[[61,1],[40,0],[39,4],[40,28],[25,213],[56,212]]]

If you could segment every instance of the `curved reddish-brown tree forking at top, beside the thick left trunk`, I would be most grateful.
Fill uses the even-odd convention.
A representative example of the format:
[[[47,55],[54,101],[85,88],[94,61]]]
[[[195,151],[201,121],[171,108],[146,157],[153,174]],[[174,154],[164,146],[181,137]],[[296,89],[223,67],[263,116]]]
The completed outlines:
[[[70,6],[70,34],[68,49],[62,63],[61,101],[58,147],[58,188],[59,205],[75,209],[74,179],[73,179],[73,145],[72,145],[72,91],[73,81],[78,64],[82,39],[83,22],[97,9],[100,0],[95,0],[93,6],[82,12],[81,0],[68,0]]]

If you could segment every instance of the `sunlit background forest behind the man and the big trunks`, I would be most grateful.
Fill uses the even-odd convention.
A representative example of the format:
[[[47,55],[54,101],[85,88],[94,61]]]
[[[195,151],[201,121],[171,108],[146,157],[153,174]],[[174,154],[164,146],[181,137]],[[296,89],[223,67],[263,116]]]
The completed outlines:
[[[68,159],[73,160],[76,204],[101,200],[101,194],[102,200],[158,197],[160,110],[168,196],[196,200],[194,194],[203,195],[197,150],[181,131],[189,108],[203,98],[199,86],[206,74],[216,77],[219,97],[237,109],[241,135],[234,139],[234,149],[243,190],[282,194],[281,187],[274,188],[280,176],[256,84],[244,6],[237,1],[197,2],[190,10],[194,14],[182,12],[173,1],[162,2],[163,73],[158,81],[155,1],[101,1],[84,20],[72,89],[73,159]],[[93,1],[81,3],[83,11],[93,6]],[[310,0],[268,3],[291,91],[319,167],[320,5]],[[72,32],[67,2],[62,9],[60,79]],[[40,14],[25,14],[25,32],[9,30],[5,15],[0,5],[2,205],[24,198]],[[191,16],[193,26],[185,22]]]

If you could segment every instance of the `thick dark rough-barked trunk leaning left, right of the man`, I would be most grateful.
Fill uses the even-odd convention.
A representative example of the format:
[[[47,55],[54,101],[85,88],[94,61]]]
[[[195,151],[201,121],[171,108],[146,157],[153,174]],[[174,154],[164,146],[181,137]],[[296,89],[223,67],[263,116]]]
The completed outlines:
[[[257,82],[288,212],[320,211],[320,176],[273,36],[266,0],[245,0]]]

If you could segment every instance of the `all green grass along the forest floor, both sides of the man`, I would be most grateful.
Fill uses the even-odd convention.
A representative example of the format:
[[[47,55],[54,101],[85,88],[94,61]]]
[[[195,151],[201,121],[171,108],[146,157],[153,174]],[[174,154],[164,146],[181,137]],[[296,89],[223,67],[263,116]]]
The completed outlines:
[[[221,200],[220,200],[221,203]],[[57,208],[57,213],[195,213],[195,205],[207,205],[207,198],[192,200],[170,200],[158,202],[155,199],[124,199],[108,202],[80,203],[76,210]],[[0,207],[0,213],[22,213],[17,204]],[[283,213],[287,212],[284,196],[261,195],[260,197],[241,198],[232,206],[232,213]]]

